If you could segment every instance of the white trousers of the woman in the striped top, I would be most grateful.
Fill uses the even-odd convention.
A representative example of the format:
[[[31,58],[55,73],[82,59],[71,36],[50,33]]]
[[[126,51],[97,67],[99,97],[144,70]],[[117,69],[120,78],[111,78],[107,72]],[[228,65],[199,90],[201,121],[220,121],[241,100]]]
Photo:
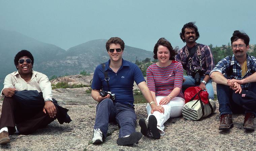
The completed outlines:
[[[160,100],[163,98],[164,96],[157,96],[156,97],[156,101],[157,104],[159,104]],[[148,104],[147,105],[147,112],[148,112],[148,118],[147,120],[149,120],[149,116],[150,115],[154,115],[157,119],[157,128],[160,132],[160,135],[164,135],[164,122],[166,122],[170,117],[179,117],[182,115],[182,108],[185,105],[185,100],[181,97],[175,97],[173,99],[171,99],[171,101],[169,103],[167,103],[166,105],[161,105],[162,107],[164,107],[164,113],[160,113],[159,111],[154,111],[153,114],[151,114],[151,107]],[[151,136],[152,134],[149,133],[149,136]]]

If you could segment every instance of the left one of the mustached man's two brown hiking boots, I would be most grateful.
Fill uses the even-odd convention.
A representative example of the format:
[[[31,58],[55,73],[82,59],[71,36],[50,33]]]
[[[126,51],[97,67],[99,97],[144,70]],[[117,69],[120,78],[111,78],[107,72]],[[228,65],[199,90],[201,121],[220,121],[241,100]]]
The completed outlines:
[[[222,114],[220,117],[220,126],[219,130],[228,131],[229,129],[233,128],[234,124],[232,121],[231,114]]]

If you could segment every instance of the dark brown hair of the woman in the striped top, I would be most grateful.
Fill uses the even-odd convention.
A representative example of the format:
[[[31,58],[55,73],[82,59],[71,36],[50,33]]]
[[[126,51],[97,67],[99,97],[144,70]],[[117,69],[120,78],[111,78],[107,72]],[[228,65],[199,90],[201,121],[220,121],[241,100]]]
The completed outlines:
[[[177,51],[176,51],[176,49],[172,48],[171,43],[168,40],[166,40],[165,38],[160,38],[157,41],[157,43],[155,44],[155,47],[154,47],[154,50],[153,50],[153,52],[154,52],[154,56],[153,56],[154,59],[157,59],[157,50],[158,50],[158,47],[160,45],[167,47],[167,49],[169,50],[169,52],[170,52],[169,60],[175,60],[175,55],[177,54]]]

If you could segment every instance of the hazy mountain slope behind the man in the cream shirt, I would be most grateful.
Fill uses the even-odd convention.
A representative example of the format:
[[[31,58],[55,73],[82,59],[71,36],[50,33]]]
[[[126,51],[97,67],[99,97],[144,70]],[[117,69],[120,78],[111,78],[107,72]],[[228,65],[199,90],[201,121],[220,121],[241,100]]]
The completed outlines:
[[[0,29],[0,89],[3,88],[3,81],[8,73],[16,69],[13,59],[17,52],[26,49],[34,56],[34,69],[43,71],[37,66],[42,62],[53,60],[56,56],[65,53],[64,49],[52,44],[43,43],[18,32]]]

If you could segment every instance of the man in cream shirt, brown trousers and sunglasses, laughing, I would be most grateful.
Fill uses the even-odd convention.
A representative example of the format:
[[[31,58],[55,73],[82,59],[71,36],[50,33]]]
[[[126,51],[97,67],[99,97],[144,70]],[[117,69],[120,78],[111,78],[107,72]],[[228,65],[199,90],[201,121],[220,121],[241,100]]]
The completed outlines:
[[[14,57],[18,71],[5,77],[1,91],[4,100],[0,117],[0,144],[10,142],[9,134],[32,133],[56,118],[59,120],[65,116],[64,120],[59,120],[60,123],[71,121],[68,110],[60,107],[52,98],[52,87],[47,76],[32,70],[33,63],[32,54],[22,50]],[[39,92],[42,92],[42,97]],[[24,97],[19,99],[21,95]]]

